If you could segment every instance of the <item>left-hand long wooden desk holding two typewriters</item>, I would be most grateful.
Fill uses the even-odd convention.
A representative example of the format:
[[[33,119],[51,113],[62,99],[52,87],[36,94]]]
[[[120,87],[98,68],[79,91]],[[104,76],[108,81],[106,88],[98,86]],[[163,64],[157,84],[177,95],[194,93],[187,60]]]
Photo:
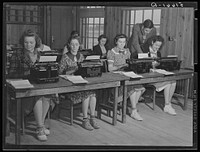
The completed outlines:
[[[21,110],[22,99],[26,97],[48,95],[55,93],[69,93],[84,90],[96,90],[104,88],[115,88],[115,97],[118,97],[118,87],[121,85],[121,81],[127,80],[127,77],[114,73],[103,73],[101,77],[86,78],[88,84],[86,85],[73,85],[71,82],[60,78],[56,83],[46,84],[33,84],[34,88],[31,89],[15,89],[7,83],[7,91],[16,99],[16,124],[15,124],[15,144],[20,144],[20,128],[21,128]],[[117,101],[117,100],[115,100]],[[7,105],[8,106],[8,105]],[[7,112],[8,114],[8,112]],[[114,117],[113,125],[116,125],[117,115],[117,102],[114,103]]]

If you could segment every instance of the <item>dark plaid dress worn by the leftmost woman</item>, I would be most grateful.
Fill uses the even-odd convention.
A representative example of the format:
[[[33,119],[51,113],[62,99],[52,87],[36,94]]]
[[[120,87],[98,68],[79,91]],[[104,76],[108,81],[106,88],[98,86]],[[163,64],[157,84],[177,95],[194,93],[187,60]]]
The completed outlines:
[[[36,62],[40,59],[40,53],[37,52],[37,49],[34,51],[36,56]],[[9,78],[22,78],[27,79],[30,75],[30,68],[34,66],[34,62],[29,56],[28,51],[26,50],[18,50],[16,54],[13,54],[11,60],[11,67],[9,70]],[[58,103],[58,99],[56,95],[44,95],[44,96],[36,96],[36,97],[28,97],[23,98],[23,108],[24,111],[28,114],[32,111],[36,101],[43,100],[48,101],[52,108],[54,108],[55,103]]]

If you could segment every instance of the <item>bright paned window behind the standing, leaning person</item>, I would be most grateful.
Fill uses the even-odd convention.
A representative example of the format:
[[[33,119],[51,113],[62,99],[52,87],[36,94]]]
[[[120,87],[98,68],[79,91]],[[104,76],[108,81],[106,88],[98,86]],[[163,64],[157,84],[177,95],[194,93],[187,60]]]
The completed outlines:
[[[151,19],[160,34],[161,9],[152,8],[123,8],[122,9],[122,32],[128,37],[132,34],[132,28],[136,23],[142,23],[146,19]]]

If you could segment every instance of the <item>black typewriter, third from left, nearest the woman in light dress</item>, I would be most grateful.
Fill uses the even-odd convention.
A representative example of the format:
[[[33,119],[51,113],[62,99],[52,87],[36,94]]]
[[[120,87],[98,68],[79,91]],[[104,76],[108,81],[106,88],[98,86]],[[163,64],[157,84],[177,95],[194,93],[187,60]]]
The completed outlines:
[[[152,68],[153,58],[141,58],[141,59],[127,59],[126,63],[128,68],[125,71],[133,71],[135,73],[148,73]]]

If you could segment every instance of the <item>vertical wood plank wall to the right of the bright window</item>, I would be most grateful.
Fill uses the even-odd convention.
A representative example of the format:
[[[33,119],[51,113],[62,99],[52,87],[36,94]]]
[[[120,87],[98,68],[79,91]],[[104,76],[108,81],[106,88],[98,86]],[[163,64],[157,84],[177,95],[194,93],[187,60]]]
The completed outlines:
[[[178,55],[182,68],[194,68],[193,12],[193,8],[163,8],[161,11],[160,33],[165,39],[161,54]]]

